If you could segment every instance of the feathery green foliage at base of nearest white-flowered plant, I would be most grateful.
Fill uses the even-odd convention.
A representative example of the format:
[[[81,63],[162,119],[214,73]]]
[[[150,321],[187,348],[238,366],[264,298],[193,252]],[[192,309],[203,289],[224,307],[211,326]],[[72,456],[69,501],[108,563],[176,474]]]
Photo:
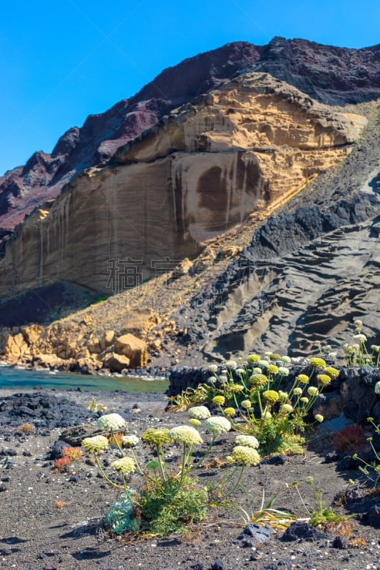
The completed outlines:
[[[194,477],[185,477],[182,483],[175,475],[166,481],[146,480],[138,499],[142,528],[161,537],[201,522],[207,507],[207,491],[197,489]]]

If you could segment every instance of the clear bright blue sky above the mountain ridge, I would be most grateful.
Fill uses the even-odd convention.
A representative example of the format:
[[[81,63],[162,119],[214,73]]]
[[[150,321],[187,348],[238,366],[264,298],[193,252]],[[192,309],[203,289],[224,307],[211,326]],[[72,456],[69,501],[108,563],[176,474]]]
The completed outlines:
[[[379,0],[38,0],[4,2],[0,175],[168,66],[232,41],[273,36],[380,43]]]

